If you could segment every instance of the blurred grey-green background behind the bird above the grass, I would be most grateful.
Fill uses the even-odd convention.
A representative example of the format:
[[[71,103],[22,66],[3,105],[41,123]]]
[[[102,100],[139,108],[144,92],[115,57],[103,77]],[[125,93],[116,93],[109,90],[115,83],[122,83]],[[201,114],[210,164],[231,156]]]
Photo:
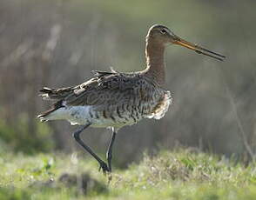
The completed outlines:
[[[114,162],[125,167],[145,150],[177,145],[248,159],[246,145],[256,147],[255,8],[253,0],[1,0],[0,150],[80,150],[71,137],[76,126],[37,120],[50,107],[38,90],[83,83],[91,70],[110,66],[143,70],[147,30],[162,23],[226,61],[167,48],[165,88],[174,103],[161,120],[120,130]],[[83,137],[104,156],[110,130]]]

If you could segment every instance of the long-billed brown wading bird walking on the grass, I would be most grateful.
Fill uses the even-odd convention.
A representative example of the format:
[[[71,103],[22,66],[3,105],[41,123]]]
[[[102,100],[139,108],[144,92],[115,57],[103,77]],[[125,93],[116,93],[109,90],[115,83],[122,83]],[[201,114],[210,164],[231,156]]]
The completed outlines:
[[[165,47],[177,44],[224,61],[225,56],[176,36],[165,25],[154,24],[145,37],[145,70],[118,72],[94,70],[94,77],[76,86],[59,89],[44,87],[40,96],[55,101],[50,110],[37,117],[41,122],[67,120],[80,125],[73,133],[77,143],[99,163],[99,170],[111,173],[112,148],[118,130],[144,118],[160,119],[172,104],[165,90]],[[80,134],[88,127],[111,128],[106,162],[84,143]]]

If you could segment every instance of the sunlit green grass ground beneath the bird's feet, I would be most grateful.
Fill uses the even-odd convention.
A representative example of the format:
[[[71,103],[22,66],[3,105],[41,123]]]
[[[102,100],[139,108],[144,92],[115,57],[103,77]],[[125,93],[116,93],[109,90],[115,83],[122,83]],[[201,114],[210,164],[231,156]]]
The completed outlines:
[[[163,150],[104,177],[84,153],[29,157],[2,152],[0,199],[253,200],[255,166],[196,150]]]

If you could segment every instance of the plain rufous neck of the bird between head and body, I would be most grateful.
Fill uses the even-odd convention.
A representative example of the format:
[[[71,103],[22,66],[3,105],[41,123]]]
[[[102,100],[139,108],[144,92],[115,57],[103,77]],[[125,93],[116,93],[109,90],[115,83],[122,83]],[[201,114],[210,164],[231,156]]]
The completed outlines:
[[[145,58],[146,76],[154,79],[158,84],[165,84],[165,45],[151,38],[146,38]]]

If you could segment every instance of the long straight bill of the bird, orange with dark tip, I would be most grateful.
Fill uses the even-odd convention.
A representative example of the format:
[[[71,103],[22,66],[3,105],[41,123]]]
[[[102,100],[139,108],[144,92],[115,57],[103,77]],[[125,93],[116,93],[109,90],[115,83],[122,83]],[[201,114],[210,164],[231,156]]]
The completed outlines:
[[[205,48],[200,47],[198,44],[187,42],[184,39],[181,39],[179,37],[175,38],[175,40],[172,41],[172,43],[179,44],[180,46],[184,46],[190,50],[194,50],[199,54],[203,54],[208,57],[213,57],[219,61],[224,61],[224,59],[226,58],[225,56],[219,53],[215,53],[212,50],[206,50]]]

